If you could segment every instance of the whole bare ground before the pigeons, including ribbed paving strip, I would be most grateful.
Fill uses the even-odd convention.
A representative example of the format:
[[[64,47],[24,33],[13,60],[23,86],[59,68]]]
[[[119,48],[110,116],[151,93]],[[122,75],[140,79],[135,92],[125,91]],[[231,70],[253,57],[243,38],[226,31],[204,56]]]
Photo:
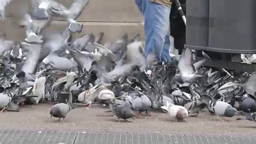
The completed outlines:
[[[219,122],[203,112],[187,122],[171,122],[168,114],[153,112],[133,122],[116,122],[100,104],[70,111],[64,122],[50,118],[53,104],[25,105],[20,112],[2,112],[0,144],[255,144],[256,124],[237,121],[238,116]],[[2,140],[2,143],[1,143]],[[146,142],[147,140],[147,142]],[[171,141],[170,141],[171,140]]]

